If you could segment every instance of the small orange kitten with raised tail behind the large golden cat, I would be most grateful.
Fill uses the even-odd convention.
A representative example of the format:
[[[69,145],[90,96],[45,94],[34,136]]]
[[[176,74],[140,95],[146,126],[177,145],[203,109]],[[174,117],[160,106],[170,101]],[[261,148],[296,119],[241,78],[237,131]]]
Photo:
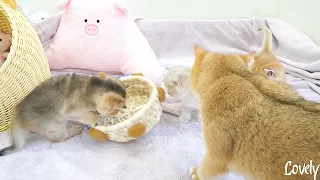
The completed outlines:
[[[251,52],[242,56],[254,74],[265,76],[275,81],[285,81],[285,70],[272,52],[272,33],[268,28],[260,28],[264,32],[262,48],[258,52]]]

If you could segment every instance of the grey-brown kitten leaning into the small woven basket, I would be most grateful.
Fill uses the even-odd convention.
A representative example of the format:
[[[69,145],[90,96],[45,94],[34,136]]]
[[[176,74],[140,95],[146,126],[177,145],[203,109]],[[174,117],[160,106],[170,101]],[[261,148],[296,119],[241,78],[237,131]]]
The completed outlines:
[[[12,145],[0,151],[7,155],[24,145],[25,133],[36,132],[51,141],[64,141],[79,134],[81,126],[67,129],[70,118],[91,127],[103,125],[108,116],[125,106],[126,91],[116,78],[61,75],[37,86],[16,107],[11,122]]]

